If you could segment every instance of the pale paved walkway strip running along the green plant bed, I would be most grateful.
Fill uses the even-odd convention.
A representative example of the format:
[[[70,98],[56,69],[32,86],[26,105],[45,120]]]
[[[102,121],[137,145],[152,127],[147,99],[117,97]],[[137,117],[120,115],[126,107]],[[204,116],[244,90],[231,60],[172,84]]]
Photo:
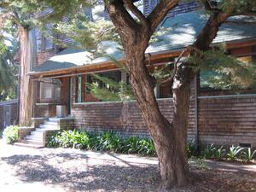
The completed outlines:
[[[3,139],[0,140],[0,152],[0,157],[17,154],[79,154],[84,155],[86,158],[97,160],[113,160],[121,161],[123,163],[158,165],[158,160],[156,157],[143,157],[136,154],[114,154],[108,152],[85,151],[74,148],[24,148],[7,145],[3,143]],[[195,166],[197,163],[194,160],[191,160],[190,164]],[[228,172],[256,172],[256,165],[252,164],[247,165],[241,163],[205,160],[203,166]]]

